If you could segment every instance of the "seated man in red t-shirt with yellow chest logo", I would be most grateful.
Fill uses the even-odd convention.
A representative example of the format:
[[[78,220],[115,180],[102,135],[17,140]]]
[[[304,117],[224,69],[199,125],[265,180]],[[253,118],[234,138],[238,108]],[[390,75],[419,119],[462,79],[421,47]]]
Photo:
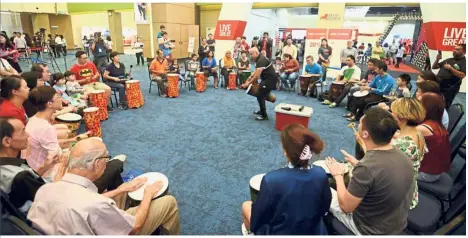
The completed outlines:
[[[70,69],[75,74],[76,81],[83,86],[86,92],[94,90],[104,90],[107,99],[107,111],[114,112],[109,104],[111,88],[105,83],[99,82],[100,73],[94,63],[88,61],[88,56],[82,50],[75,53],[78,62]]]

